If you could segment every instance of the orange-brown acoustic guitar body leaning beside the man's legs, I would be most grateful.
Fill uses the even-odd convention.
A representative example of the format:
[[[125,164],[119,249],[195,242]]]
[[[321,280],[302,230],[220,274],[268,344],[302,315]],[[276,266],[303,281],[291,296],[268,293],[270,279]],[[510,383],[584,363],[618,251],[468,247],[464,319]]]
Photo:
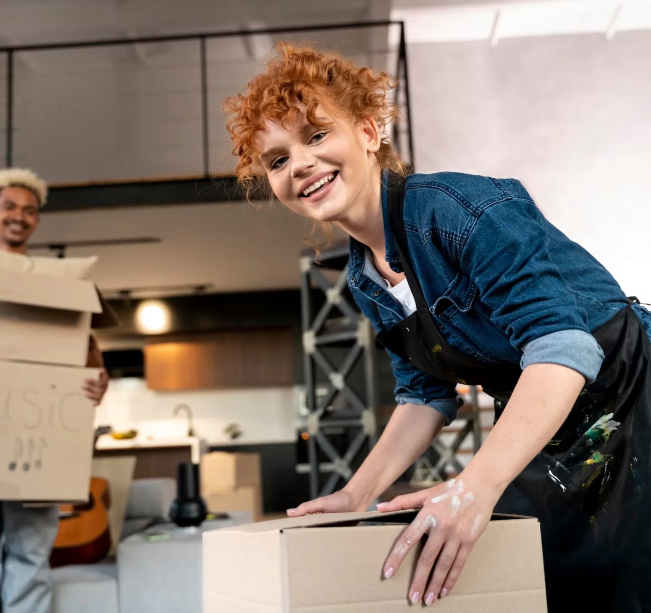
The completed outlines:
[[[68,564],[94,564],[103,560],[111,549],[108,509],[111,506],[109,483],[90,478],[90,495],[86,504],[59,507],[68,517],[59,519],[59,532],[49,558],[52,568]]]

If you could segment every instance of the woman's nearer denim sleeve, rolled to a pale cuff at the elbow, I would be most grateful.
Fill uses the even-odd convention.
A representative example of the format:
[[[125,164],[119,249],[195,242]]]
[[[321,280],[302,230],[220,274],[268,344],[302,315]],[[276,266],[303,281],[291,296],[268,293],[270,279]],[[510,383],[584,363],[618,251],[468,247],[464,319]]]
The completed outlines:
[[[512,198],[478,215],[460,256],[491,320],[523,351],[521,365],[547,362],[593,381],[603,351],[558,267],[533,202]]]

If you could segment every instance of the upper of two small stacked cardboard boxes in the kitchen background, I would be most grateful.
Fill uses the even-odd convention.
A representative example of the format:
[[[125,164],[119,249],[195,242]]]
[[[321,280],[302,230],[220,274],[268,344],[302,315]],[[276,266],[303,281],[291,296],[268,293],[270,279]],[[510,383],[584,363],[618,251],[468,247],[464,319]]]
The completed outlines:
[[[234,489],[243,485],[260,485],[260,454],[212,452],[201,457],[201,491]]]

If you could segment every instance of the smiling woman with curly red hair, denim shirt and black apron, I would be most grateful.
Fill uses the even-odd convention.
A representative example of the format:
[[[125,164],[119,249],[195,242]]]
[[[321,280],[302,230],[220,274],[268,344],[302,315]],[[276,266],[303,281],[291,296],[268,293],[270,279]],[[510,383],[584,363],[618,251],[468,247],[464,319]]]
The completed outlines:
[[[285,206],[350,236],[348,286],[396,378],[350,482],[288,513],[366,510],[454,420],[456,385],[482,385],[496,423],[463,472],[378,505],[421,509],[385,579],[426,535],[407,597],[447,596],[497,509],[540,519],[551,612],[651,610],[651,313],[517,180],[407,176],[385,135],[393,85],[281,45],[224,104],[242,184],[260,170]]]

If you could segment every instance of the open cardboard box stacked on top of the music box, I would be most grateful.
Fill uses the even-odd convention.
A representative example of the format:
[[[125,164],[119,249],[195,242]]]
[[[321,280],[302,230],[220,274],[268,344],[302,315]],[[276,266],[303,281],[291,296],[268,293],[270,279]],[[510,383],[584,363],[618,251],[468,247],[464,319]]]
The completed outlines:
[[[90,280],[0,270],[0,359],[85,366],[101,312]]]

